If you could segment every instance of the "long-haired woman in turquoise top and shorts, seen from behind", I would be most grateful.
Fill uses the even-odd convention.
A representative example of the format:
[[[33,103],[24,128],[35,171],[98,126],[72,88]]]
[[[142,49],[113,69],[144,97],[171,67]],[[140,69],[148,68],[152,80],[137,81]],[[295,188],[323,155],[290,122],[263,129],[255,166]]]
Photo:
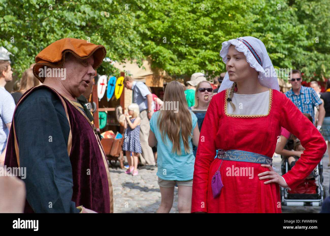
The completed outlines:
[[[176,184],[179,213],[190,213],[195,162],[192,144],[198,146],[199,137],[197,118],[188,110],[183,87],[177,81],[166,85],[164,104],[167,109],[160,109],[150,119],[148,140],[150,147],[157,143],[158,150],[157,176],[162,199],[157,213],[170,212]],[[170,104],[175,104],[176,109],[171,109]]]

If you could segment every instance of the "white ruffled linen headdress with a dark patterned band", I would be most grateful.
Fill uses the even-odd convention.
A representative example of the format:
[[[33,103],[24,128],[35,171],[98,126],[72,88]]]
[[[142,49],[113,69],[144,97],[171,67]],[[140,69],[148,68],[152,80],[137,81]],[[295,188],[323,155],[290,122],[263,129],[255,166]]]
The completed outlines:
[[[223,42],[220,56],[224,63],[227,63],[227,54],[230,45],[234,45],[237,51],[243,52],[250,66],[259,72],[258,78],[261,85],[280,91],[276,71],[268,56],[266,47],[261,40],[246,36]],[[226,72],[218,93],[231,88],[233,83],[229,80],[228,72]]]

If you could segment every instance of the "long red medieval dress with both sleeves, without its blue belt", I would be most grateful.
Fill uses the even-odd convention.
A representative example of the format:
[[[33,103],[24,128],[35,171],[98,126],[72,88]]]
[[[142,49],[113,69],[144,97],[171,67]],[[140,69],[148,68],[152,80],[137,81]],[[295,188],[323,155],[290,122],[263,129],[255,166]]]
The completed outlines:
[[[271,109],[265,117],[229,117],[224,113],[226,90],[212,97],[195,159],[191,212],[281,213],[280,186],[275,183],[265,185],[264,182],[270,179],[259,180],[257,175],[269,169],[257,163],[224,160],[220,168],[224,186],[220,195],[213,198],[211,180],[221,163],[220,159],[215,159],[216,149],[235,149],[272,157],[282,126],[306,148],[292,170],[283,175],[291,189],[305,180],[320,162],[327,149],[322,135],[289,98],[277,90],[271,91]],[[250,167],[253,178],[227,176],[228,167]]]

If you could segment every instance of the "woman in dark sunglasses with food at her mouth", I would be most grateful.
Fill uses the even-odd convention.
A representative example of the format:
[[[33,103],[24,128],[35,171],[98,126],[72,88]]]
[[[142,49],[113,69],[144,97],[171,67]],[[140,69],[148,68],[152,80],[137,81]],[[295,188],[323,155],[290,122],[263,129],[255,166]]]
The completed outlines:
[[[189,107],[189,110],[207,110],[213,95],[213,88],[210,82],[202,81],[196,86],[195,105]],[[195,113],[197,117],[198,129],[201,131],[205,113]],[[196,156],[197,147],[193,145],[193,153]]]

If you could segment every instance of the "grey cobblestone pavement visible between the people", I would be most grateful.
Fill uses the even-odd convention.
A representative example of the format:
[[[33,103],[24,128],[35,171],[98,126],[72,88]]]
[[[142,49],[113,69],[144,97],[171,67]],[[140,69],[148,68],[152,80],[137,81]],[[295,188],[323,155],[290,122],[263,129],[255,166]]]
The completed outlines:
[[[274,156],[273,167],[281,174],[281,157]],[[327,166],[329,157],[323,157],[324,183],[329,186],[330,168]],[[110,175],[114,191],[114,213],[156,213],[161,195],[157,167],[153,170],[139,169],[137,176],[125,174],[125,169],[110,167]],[[283,213],[319,213],[321,207],[283,206]],[[170,213],[178,213],[178,188],[174,189],[174,202]]]

